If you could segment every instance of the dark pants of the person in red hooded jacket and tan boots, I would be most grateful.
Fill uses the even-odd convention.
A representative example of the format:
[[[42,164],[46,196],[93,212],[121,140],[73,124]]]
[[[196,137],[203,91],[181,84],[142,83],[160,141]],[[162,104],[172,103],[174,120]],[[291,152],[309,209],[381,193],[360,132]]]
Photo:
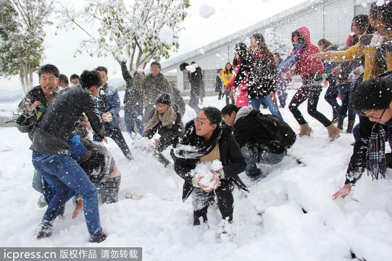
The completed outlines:
[[[303,118],[298,106],[308,99],[308,114],[321,122],[324,127],[328,127],[332,122],[327,119],[322,113],[317,111],[317,104],[319,103],[319,96],[322,91],[320,84],[302,85],[295,93],[293,99],[290,101],[289,110],[294,115],[294,118],[300,125],[305,124],[306,120]]]

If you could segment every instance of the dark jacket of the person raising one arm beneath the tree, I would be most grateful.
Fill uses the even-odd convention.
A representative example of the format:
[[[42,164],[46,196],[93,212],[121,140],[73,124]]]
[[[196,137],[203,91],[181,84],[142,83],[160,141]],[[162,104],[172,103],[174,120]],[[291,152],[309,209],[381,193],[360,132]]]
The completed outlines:
[[[126,83],[124,105],[131,106],[135,109],[143,109],[143,90],[133,88],[133,77],[126,68],[126,63],[121,63],[121,71]]]

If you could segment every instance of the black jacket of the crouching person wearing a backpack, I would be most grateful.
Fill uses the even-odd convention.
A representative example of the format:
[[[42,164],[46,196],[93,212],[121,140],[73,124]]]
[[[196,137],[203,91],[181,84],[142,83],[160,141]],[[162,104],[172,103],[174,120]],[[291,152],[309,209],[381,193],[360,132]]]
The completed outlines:
[[[237,115],[239,117],[239,115]],[[273,146],[271,137],[257,120],[260,117],[260,111],[253,109],[245,117],[237,118],[234,124],[234,138],[236,142],[243,147],[245,143],[257,142],[263,150],[280,154],[284,149],[278,149]]]

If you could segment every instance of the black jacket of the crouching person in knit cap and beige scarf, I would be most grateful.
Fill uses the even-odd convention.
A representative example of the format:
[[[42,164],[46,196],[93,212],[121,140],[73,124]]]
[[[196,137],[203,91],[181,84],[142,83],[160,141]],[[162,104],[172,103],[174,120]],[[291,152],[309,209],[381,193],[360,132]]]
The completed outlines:
[[[155,133],[158,133],[161,137],[159,138],[159,144],[164,147],[168,147],[173,144],[174,141],[177,140],[177,137],[183,133],[184,124],[181,120],[181,113],[177,112],[177,108],[175,104],[172,104],[175,114],[177,115],[177,119],[175,123],[172,125],[172,128],[162,127],[162,121],[159,121],[155,127],[143,132],[143,137],[147,137],[151,139]],[[151,119],[154,115],[155,111],[152,111],[151,115],[149,115],[148,119]],[[147,120],[148,121],[148,120]],[[175,142],[174,142],[175,143]]]

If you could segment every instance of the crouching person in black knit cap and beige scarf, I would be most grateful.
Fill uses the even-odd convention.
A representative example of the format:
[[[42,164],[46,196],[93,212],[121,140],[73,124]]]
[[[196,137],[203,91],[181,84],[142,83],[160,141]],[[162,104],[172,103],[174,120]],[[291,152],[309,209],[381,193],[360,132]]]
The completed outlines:
[[[156,110],[149,117],[142,136],[152,139],[156,133],[160,135],[153,142],[153,152],[158,161],[167,167],[170,161],[163,156],[162,151],[181,135],[184,128],[181,114],[177,112],[177,106],[172,104],[170,95],[164,93],[156,100]]]

